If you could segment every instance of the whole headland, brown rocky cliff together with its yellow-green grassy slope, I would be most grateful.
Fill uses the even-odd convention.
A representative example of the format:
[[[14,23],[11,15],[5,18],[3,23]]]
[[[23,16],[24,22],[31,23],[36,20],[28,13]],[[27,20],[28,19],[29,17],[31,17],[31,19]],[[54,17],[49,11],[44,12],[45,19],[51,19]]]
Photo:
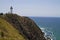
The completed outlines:
[[[0,30],[0,39],[46,40],[44,33],[32,19],[17,14],[0,15]]]

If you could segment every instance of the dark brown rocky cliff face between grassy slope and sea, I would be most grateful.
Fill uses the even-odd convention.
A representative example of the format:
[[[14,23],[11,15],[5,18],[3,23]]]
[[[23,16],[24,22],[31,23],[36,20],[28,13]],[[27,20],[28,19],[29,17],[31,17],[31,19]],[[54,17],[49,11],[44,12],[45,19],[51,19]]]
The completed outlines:
[[[18,30],[19,34],[21,34],[25,40],[46,40],[41,29],[28,17],[18,16],[16,14],[5,14],[4,17],[1,18]]]

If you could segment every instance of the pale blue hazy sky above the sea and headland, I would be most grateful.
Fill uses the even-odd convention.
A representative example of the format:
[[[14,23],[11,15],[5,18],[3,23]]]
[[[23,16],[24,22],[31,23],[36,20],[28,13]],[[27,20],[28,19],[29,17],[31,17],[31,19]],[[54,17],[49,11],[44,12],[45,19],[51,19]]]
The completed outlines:
[[[60,17],[60,0],[0,0],[0,12],[21,16]]]

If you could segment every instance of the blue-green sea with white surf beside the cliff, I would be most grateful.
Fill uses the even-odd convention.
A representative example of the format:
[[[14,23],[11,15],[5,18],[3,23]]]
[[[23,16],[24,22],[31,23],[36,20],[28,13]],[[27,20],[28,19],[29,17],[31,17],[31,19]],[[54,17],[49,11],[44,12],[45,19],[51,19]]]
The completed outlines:
[[[30,17],[51,40],[60,40],[60,17]]]

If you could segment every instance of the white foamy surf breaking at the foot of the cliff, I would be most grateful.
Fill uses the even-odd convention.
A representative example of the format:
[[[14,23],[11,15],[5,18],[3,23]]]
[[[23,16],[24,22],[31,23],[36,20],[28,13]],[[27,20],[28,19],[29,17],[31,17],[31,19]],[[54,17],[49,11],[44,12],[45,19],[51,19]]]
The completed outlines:
[[[42,27],[40,27],[40,29],[42,30],[42,32],[44,32],[44,37],[46,38],[46,40],[56,40],[54,33],[52,31]]]

